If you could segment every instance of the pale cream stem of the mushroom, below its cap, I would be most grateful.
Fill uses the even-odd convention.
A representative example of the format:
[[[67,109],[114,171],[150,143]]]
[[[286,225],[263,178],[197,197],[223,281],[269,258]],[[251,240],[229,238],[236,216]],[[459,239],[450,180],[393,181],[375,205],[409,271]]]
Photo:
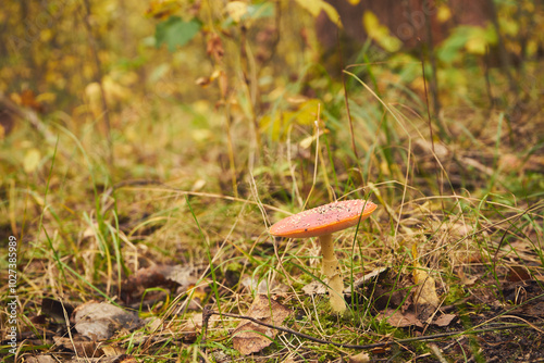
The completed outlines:
[[[344,300],[344,281],[338,266],[338,260],[334,254],[332,235],[322,235],[319,237],[321,242],[321,255],[323,256],[322,272],[329,277],[329,297],[331,308],[334,312],[343,313],[346,311],[346,301]]]

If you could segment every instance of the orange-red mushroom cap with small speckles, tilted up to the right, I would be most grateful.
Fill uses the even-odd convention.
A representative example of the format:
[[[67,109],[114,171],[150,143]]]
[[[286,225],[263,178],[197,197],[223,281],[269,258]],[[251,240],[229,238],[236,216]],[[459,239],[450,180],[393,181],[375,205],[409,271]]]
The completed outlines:
[[[270,234],[288,238],[330,235],[355,226],[376,208],[363,199],[334,202],[288,216],[270,227]]]

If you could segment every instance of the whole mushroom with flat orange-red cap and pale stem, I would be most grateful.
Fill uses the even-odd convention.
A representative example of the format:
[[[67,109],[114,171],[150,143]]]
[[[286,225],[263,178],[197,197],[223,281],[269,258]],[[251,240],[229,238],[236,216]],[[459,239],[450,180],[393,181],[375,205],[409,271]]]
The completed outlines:
[[[276,237],[319,237],[323,256],[322,272],[329,277],[329,296],[334,312],[343,313],[346,310],[346,302],[332,234],[355,226],[372,214],[376,208],[376,204],[363,199],[345,200],[294,214],[270,227],[270,234]]]

